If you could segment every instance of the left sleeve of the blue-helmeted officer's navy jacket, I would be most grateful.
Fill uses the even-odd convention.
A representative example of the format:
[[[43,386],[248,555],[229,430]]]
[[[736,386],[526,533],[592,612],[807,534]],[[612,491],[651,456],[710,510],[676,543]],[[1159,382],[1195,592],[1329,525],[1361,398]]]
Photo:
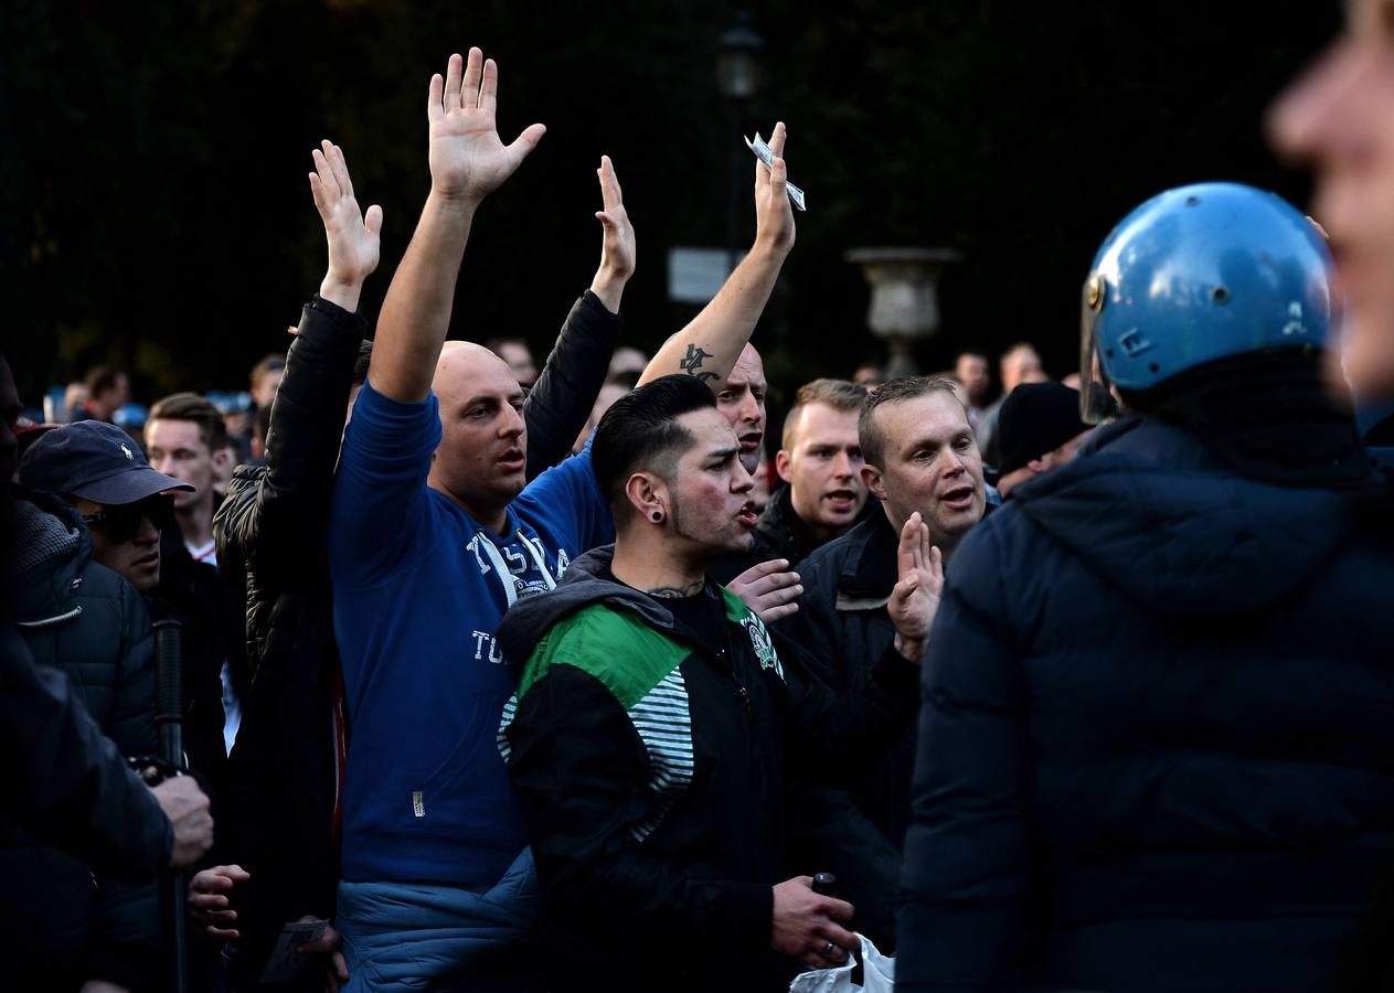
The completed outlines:
[[[991,526],[953,556],[924,660],[898,921],[901,990],[1015,989],[1032,876],[1020,657]]]

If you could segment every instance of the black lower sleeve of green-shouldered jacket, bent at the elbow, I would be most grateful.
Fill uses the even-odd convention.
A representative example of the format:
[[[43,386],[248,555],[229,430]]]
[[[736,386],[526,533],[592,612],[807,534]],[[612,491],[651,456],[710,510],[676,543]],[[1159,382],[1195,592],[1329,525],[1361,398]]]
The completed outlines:
[[[648,758],[598,680],[553,666],[523,696],[506,734],[509,776],[549,905],[604,921],[645,954],[671,946],[673,961],[693,947],[768,947],[771,887],[655,858],[630,837],[648,812]]]

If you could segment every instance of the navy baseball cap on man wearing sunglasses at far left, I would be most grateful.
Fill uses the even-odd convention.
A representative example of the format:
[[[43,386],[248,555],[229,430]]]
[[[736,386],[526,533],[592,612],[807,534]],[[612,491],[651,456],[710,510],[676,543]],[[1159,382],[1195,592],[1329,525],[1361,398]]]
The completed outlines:
[[[141,446],[105,421],[78,421],[46,432],[20,460],[20,483],[105,504],[135,503],[164,490],[194,492],[152,469]]]

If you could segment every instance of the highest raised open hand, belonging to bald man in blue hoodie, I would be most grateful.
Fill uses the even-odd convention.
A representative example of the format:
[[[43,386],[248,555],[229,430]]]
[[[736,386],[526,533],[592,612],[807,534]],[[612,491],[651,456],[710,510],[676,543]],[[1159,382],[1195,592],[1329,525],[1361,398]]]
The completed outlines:
[[[499,67],[480,49],[468,61],[450,56],[445,78],[431,77],[427,117],[431,121],[431,191],[478,203],[513,175],[546,132],[533,124],[512,145],[499,139]]]

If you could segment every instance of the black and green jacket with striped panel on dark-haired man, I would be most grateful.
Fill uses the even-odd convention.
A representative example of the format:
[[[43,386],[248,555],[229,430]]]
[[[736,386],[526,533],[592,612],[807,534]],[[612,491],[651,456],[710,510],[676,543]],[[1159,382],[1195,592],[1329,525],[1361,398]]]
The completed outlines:
[[[552,989],[783,989],[771,887],[818,869],[783,863],[786,773],[855,776],[910,719],[917,668],[891,649],[839,699],[712,582],[719,649],[608,563],[577,560],[498,630]]]

